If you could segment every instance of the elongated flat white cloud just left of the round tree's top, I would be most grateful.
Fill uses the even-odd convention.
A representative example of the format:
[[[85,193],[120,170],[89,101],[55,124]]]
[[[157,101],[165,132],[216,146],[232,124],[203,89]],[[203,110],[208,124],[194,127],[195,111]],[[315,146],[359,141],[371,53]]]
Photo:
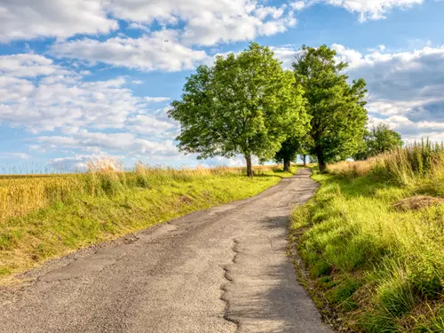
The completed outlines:
[[[84,38],[52,46],[59,58],[74,58],[90,63],[103,62],[140,70],[180,71],[194,69],[207,59],[204,51],[195,51],[177,41],[178,32],[162,30],[140,38],[114,37],[105,42]]]

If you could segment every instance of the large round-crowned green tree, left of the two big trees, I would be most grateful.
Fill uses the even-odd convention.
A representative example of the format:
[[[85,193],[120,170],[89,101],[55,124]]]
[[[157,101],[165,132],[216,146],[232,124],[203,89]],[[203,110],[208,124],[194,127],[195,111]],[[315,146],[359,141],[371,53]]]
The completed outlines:
[[[181,125],[181,151],[199,159],[242,154],[251,177],[251,155],[269,160],[290,129],[305,131],[302,95],[274,52],[251,43],[237,55],[218,56],[211,67],[198,67],[169,115]]]

